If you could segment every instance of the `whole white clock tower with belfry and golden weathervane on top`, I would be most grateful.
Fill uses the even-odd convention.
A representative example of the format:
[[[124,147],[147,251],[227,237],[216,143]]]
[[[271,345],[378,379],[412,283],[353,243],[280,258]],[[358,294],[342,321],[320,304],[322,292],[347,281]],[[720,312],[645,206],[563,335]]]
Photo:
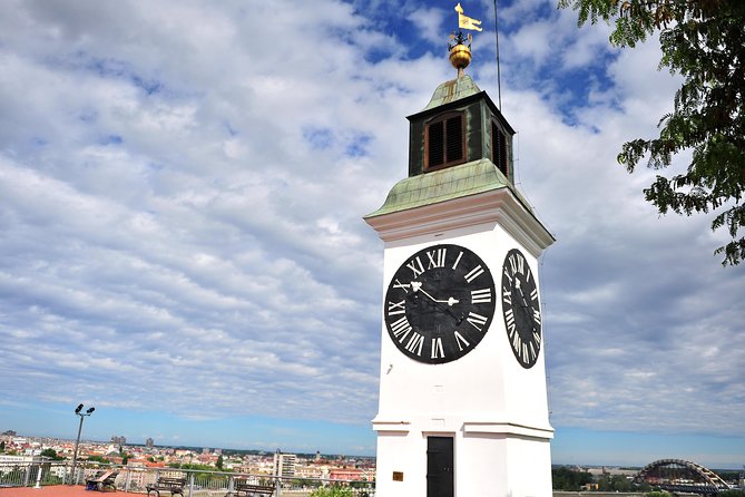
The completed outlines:
[[[409,176],[364,217],[384,241],[376,494],[550,497],[553,237],[514,187],[514,130],[463,74],[470,35],[453,40],[458,78],[409,116]]]

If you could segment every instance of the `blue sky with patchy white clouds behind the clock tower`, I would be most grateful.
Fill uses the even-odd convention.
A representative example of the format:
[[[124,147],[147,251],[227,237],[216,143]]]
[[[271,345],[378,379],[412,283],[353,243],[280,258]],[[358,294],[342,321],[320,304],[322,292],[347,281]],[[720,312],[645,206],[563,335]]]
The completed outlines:
[[[451,1],[0,0],[0,431],[374,455],[405,116],[455,77]],[[469,74],[499,100],[491,0]],[[556,0],[499,4],[540,260],[555,464],[745,464],[745,265],[660,215],[625,140],[678,76]],[[686,156],[670,172],[685,170]],[[668,174],[670,172],[663,172]]]

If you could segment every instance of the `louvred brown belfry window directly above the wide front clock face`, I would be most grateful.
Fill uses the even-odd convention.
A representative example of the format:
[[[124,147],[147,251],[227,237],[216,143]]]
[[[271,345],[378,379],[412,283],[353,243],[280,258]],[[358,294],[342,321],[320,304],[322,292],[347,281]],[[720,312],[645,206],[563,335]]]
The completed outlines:
[[[463,113],[448,113],[427,125],[424,168],[433,169],[465,162]]]

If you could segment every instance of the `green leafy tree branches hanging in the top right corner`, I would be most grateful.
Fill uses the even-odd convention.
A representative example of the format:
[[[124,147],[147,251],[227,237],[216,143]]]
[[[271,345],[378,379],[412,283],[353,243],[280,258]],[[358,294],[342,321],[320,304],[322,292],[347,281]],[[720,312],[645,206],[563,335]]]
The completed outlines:
[[[615,21],[610,42],[634,47],[659,32],[660,68],[680,74],[684,82],[674,110],[658,123],[657,138],[623,145],[618,162],[633,173],[661,169],[682,152],[692,152],[685,174],[657,175],[644,189],[661,214],[692,215],[719,211],[712,230],[732,237],[716,248],[723,265],[745,260],[745,1],[743,0],[559,0],[579,12],[579,25]]]

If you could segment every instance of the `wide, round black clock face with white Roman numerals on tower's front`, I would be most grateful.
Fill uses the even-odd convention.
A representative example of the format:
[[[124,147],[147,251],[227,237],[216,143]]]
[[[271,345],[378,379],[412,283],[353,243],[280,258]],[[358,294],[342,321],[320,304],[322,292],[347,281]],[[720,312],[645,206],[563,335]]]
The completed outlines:
[[[496,308],[494,280],[477,254],[434,245],[409,257],[389,284],[384,320],[401,352],[442,364],[476,348]]]

